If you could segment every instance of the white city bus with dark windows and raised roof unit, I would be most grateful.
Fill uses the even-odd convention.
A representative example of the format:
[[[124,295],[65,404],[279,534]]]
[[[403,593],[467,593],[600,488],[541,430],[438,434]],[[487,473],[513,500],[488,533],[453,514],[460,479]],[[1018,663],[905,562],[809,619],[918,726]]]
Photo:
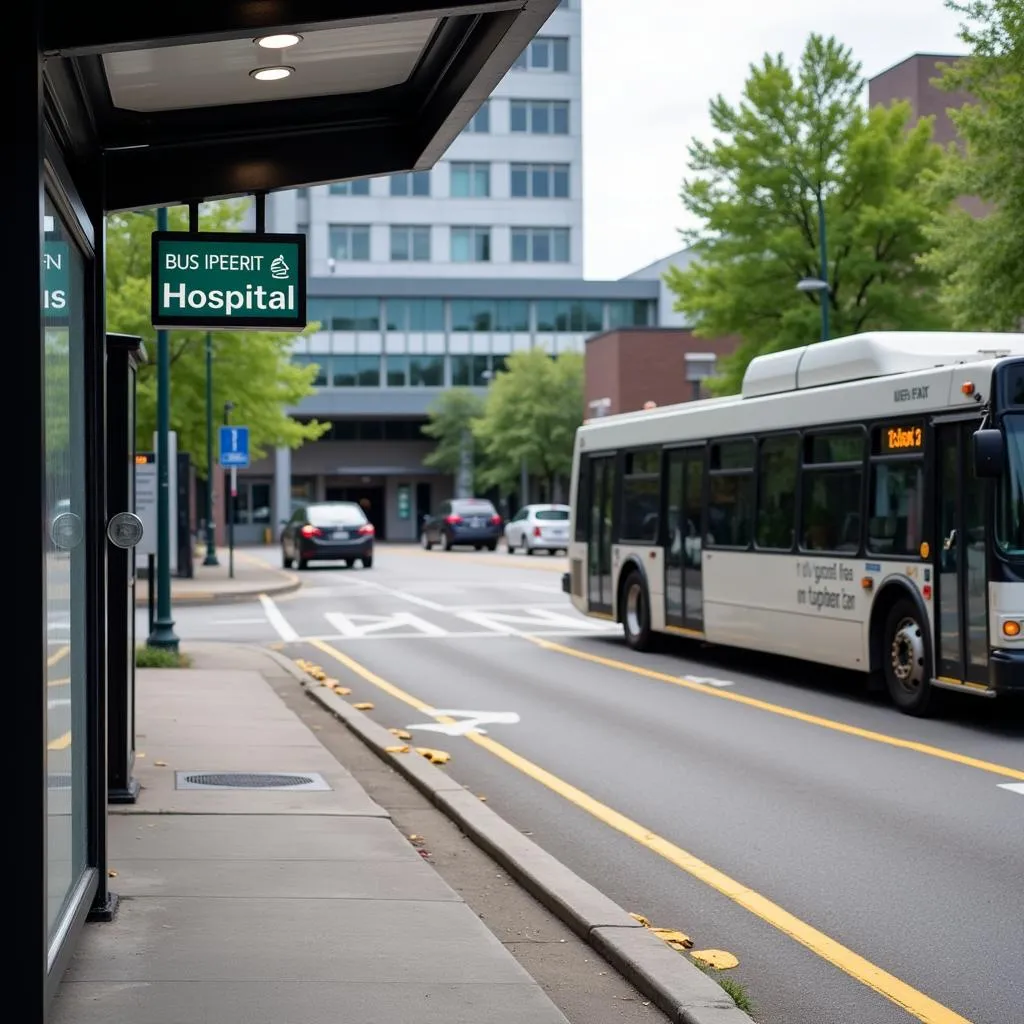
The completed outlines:
[[[737,395],[577,432],[584,614],[883,682],[1024,691],[1024,334],[881,332],[760,356]]]

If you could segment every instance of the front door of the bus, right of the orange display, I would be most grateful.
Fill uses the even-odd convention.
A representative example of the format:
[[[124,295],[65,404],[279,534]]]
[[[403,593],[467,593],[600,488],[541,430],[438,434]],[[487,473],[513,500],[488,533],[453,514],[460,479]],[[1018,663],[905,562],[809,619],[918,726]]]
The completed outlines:
[[[985,481],[974,475],[978,421],[936,423],[936,675],[988,685]]]

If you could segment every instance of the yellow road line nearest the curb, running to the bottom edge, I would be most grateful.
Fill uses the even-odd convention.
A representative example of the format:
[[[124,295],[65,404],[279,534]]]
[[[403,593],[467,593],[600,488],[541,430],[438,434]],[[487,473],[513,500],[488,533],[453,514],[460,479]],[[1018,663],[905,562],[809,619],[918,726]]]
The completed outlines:
[[[395,686],[393,683],[389,683],[386,679],[382,679],[375,672],[371,672],[370,669],[365,668],[347,654],[343,654],[326,641],[310,640],[309,643],[325,654],[329,654],[335,658],[360,679],[373,684],[395,699],[426,715],[430,715],[440,722],[451,723],[453,721],[446,716],[433,715],[433,710],[428,703],[413,696],[411,693],[407,693],[403,689]],[[755,892],[749,886],[735,881],[718,868],[695,857],[692,853],[688,853],[681,847],[676,846],[675,843],[626,817],[625,814],[620,814],[618,811],[595,800],[584,793],[583,790],[566,782],[564,779],[552,774],[532,761],[528,761],[521,755],[516,754],[515,751],[510,750],[504,743],[499,743],[489,736],[472,732],[467,733],[466,738],[522,772],[524,775],[532,778],[535,781],[540,782],[575,807],[586,811],[610,828],[614,828],[624,836],[628,836],[652,853],[664,857],[698,882],[702,882],[705,885],[715,889],[784,935],[788,935],[790,938],[810,949],[811,952],[817,954],[834,967],[839,968],[851,978],[856,979],[872,991],[878,992],[879,995],[901,1007],[911,1017],[923,1021],[924,1024],[971,1024],[966,1017],[961,1017],[959,1014],[948,1007],[942,1006],[941,1002],[937,1002],[924,992],[919,991],[906,982],[884,971],[859,953],[854,952],[823,932],[818,931],[812,925],[790,913],[777,903]]]

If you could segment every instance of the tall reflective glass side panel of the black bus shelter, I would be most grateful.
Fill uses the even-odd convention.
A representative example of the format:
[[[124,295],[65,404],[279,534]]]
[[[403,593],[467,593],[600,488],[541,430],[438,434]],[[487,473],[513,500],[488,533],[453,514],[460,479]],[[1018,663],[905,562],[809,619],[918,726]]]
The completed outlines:
[[[43,248],[46,515],[46,920],[86,869],[85,260],[47,197]]]

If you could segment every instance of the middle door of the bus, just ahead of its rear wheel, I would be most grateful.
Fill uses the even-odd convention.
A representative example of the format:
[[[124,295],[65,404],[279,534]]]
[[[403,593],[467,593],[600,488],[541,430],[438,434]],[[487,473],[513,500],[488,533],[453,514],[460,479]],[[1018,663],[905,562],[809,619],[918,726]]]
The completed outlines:
[[[666,459],[665,621],[669,626],[702,631],[705,449],[671,449]]]

